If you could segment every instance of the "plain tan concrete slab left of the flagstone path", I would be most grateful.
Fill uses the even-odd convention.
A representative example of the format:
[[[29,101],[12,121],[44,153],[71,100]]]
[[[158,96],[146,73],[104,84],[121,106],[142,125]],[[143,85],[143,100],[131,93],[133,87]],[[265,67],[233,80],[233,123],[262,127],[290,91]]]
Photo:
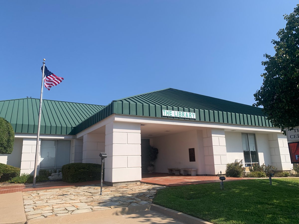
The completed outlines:
[[[22,192],[0,194],[0,211],[0,224],[26,223]]]

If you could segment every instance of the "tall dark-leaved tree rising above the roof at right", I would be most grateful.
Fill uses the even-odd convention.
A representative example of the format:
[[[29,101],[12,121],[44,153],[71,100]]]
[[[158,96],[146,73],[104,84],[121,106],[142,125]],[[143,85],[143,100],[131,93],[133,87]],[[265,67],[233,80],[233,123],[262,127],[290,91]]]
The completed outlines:
[[[263,106],[272,124],[283,131],[299,125],[299,5],[284,15],[286,28],[272,40],[275,55],[264,54],[263,85],[254,94],[253,106]]]

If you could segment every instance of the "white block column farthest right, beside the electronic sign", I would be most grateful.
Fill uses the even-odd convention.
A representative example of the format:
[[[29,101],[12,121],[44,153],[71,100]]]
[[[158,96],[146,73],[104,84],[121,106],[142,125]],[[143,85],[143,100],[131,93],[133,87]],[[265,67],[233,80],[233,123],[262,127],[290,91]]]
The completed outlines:
[[[293,166],[286,136],[282,133],[272,133],[268,134],[268,139],[272,165],[280,171],[291,170]]]

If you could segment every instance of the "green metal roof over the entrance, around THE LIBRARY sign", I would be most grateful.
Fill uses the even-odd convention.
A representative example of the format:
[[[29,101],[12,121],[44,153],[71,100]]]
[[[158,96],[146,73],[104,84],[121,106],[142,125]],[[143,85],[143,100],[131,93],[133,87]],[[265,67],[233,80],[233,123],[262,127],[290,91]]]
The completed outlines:
[[[96,124],[113,113],[137,116],[162,116],[162,110],[193,112],[197,121],[273,127],[261,108],[168,88],[112,101],[76,128],[74,134]],[[173,118],[173,117],[169,117]],[[190,118],[178,118],[192,120]]]

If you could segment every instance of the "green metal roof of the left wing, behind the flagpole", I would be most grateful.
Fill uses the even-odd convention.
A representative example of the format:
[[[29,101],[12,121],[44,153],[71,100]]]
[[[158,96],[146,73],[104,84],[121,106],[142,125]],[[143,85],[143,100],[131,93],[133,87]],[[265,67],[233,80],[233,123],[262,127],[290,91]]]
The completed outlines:
[[[43,100],[41,134],[72,134],[73,128],[105,106]],[[16,133],[37,133],[39,99],[0,101],[0,117],[11,123]]]

